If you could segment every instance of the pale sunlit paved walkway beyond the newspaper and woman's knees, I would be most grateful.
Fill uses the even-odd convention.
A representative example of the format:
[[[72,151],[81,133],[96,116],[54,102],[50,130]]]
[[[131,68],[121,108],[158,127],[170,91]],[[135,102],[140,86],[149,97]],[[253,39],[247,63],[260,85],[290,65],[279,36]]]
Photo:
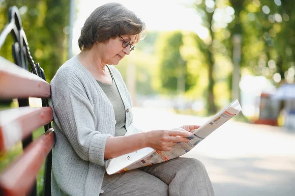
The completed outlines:
[[[202,125],[208,118],[134,108],[143,130]],[[216,196],[294,196],[295,132],[228,121],[184,157],[201,160]]]

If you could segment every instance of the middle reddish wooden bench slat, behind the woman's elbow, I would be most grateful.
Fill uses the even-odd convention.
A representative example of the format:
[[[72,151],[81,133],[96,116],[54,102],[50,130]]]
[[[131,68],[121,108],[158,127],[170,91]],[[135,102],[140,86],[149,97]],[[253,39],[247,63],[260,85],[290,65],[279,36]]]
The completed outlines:
[[[10,149],[52,119],[50,107],[21,107],[0,111],[0,152]]]

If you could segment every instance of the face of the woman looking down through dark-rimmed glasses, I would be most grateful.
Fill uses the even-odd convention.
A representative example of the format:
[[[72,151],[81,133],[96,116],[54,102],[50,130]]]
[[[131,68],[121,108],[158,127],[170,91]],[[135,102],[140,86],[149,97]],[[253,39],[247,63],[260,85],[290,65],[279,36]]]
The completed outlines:
[[[121,36],[126,41],[131,41],[130,45],[134,43],[136,35],[122,35]],[[106,43],[106,63],[111,65],[118,65],[119,61],[124,58],[125,55],[130,54],[130,45],[124,48],[122,43],[124,40],[117,36],[115,38],[111,38]]]

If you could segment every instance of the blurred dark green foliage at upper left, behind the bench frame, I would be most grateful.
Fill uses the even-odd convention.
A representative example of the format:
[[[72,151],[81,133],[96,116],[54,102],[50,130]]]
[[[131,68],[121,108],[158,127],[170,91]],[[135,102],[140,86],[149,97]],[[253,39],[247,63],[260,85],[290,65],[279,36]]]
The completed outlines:
[[[69,0],[2,0],[0,29],[8,23],[8,9],[19,8],[31,55],[44,69],[48,82],[67,58]],[[12,60],[12,39],[2,46],[0,55]]]

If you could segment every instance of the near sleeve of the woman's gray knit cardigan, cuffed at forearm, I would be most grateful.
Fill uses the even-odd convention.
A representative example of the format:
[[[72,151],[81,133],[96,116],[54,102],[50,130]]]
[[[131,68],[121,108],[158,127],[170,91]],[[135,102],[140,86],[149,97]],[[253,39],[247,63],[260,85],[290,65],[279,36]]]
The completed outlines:
[[[95,130],[96,117],[81,82],[62,69],[51,82],[54,121],[59,126],[78,156],[101,166],[105,165],[106,141],[111,135]]]

